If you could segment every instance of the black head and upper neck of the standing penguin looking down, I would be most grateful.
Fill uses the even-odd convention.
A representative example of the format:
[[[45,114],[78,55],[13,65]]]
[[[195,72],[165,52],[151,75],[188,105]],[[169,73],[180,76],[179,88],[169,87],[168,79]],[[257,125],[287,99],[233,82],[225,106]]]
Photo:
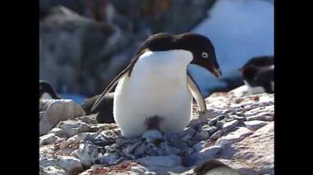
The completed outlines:
[[[193,54],[191,64],[201,66],[211,72],[216,77],[221,77],[222,72],[216,60],[215,49],[211,41],[201,34],[183,33],[172,35],[168,33],[158,33],[149,37],[140,50],[149,49],[151,51],[166,50],[187,50]]]

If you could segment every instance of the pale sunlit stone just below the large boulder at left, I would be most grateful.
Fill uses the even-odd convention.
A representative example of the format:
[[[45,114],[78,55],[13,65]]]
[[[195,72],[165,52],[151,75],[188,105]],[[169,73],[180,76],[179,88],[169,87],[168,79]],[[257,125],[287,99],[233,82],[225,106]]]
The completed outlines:
[[[88,132],[90,130],[90,125],[77,120],[63,121],[57,126],[64,130],[68,137],[71,137],[81,132]]]

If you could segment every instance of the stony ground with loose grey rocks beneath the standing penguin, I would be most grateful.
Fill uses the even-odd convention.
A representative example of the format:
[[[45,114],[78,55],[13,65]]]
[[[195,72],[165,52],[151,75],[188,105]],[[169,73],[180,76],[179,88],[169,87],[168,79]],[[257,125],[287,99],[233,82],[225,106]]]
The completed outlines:
[[[98,124],[95,115],[68,115],[40,137],[40,174],[193,175],[216,159],[241,175],[273,175],[274,95],[248,95],[245,88],[212,94],[204,115],[194,105],[181,133],[150,130],[125,139],[116,124]]]

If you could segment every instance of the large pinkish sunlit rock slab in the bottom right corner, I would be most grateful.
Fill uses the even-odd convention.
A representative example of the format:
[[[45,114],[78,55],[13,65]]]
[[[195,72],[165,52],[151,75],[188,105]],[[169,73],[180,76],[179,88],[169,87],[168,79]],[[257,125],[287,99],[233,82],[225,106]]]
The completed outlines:
[[[274,174],[274,123],[256,130],[228,150],[231,160],[221,161],[241,175]]]

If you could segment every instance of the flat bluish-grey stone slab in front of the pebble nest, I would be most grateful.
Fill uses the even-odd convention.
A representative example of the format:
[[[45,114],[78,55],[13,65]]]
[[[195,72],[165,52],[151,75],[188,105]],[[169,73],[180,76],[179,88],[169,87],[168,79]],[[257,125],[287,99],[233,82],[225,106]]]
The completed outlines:
[[[135,161],[144,166],[175,167],[181,165],[180,157],[174,154],[167,156],[148,156],[136,159]]]

